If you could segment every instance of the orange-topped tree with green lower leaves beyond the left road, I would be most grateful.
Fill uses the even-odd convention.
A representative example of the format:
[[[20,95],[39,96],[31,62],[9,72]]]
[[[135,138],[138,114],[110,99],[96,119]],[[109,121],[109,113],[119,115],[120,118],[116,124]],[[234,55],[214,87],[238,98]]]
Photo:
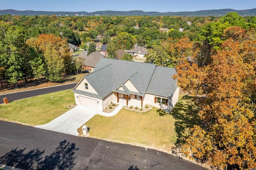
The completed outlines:
[[[26,42],[38,53],[42,53],[46,63],[46,78],[50,81],[60,81],[62,73],[69,73],[71,54],[66,40],[54,34],[41,34],[38,38],[30,38]]]

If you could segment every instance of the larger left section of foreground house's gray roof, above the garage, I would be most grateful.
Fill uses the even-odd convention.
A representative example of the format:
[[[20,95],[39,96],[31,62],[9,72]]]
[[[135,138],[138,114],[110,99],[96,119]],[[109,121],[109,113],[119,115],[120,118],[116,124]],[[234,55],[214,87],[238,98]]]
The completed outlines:
[[[102,58],[93,73],[86,75],[85,78],[102,98],[115,91],[128,79],[144,96],[155,67],[155,64],[150,63]]]

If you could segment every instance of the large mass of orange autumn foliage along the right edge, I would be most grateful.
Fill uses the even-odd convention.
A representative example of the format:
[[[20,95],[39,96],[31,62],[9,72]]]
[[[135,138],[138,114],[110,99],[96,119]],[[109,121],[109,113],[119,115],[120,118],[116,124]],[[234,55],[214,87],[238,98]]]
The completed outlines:
[[[182,150],[213,166],[256,168],[256,41],[227,40],[199,67],[180,59],[178,85],[198,99],[201,126]]]

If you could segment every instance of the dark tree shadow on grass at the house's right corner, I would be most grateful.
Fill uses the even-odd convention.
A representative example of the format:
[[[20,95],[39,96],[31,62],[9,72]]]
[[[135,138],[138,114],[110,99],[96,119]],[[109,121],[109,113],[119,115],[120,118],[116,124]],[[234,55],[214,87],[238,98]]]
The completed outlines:
[[[189,128],[194,127],[194,125],[200,125],[199,110],[192,99],[193,97],[189,95],[183,96],[170,113],[175,119],[174,125],[178,138],[176,146],[184,143]]]

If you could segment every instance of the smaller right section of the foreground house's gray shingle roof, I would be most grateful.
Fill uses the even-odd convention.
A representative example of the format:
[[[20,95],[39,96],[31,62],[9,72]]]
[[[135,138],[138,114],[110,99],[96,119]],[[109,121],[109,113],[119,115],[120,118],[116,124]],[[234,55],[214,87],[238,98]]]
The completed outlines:
[[[147,93],[163,97],[172,96],[178,87],[177,80],[172,78],[174,74],[176,74],[174,68],[157,66],[148,85]]]

